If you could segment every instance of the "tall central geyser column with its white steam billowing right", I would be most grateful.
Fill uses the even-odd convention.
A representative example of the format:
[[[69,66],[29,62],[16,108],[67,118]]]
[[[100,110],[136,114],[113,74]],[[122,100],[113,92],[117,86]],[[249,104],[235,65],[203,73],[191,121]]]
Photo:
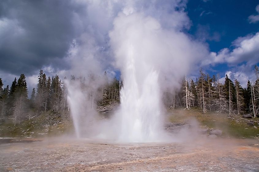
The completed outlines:
[[[124,84],[116,114],[119,140],[164,141],[161,95],[168,87],[178,87],[187,73],[192,60],[191,52],[184,49],[193,49],[191,41],[143,13],[119,13],[109,36]]]

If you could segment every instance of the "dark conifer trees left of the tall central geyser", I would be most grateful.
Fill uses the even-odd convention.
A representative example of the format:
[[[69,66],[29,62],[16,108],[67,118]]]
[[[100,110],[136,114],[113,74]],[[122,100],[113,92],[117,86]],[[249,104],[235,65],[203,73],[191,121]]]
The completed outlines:
[[[89,75],[88,77],[93,77]],[[99,105],[108,104],[111,101],[120,101],[121,81],[116,79],[108,82],[106,72],[104,76],[106,82],[97,89],[96,98],[93,99],[93,93],[89,93],[89,99],[93,99]],[[64,78],[64,81],[67,77]],[[82,80],[82,77],[70,79]],[[90,87],[91,83],[84,87]],[[28,97],[28,88],[24,74],[14,78],[11,87],[7,85],[3,88],[3,82],[0,78],[0,119],[5,121],[11,119],[16,125],[25,119],[30,119],[41,113],[65,113],[69,111],[67,102],[67,88],[58,75],[47,77],[43,70],[38,75],[38,84],[32,89],[30,98]]]

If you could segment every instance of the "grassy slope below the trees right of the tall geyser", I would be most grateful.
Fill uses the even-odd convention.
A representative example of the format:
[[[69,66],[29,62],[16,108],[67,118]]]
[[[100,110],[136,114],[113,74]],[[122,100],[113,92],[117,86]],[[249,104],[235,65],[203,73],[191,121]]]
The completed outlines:
[[[170,110],[171,122],[186,122],[190,119],[196,119],[202,128],[213,128],[222,130],[222,136],[238,137],[238,138],[256,138],[259,135],[259,118],[253,118],[254,126],[247,125],[246,120],[242,120],[241,115],[231,114],[231,118],[227,118],[229,114],[215,114],[214,112],[206,112],[205,114],[198,108],[191,110],[175,109]]]

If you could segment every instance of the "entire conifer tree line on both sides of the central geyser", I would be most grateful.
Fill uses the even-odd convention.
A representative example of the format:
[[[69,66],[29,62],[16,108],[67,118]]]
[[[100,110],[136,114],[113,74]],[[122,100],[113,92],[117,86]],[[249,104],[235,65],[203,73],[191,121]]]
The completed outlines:
[[[225,82],[220,82],[220,76],[217,74],[210,77],[200,69],[200,76],[196,81],[189,80],[186,76],[182,83],[182,89],[179,92],[167,93],[164,95],[164,103],[168,108],[200,107],[204,113],[215,111],[216,113],[229,114],[253,114],[257,116],[259,110],[259,69],[254,67],[256,81],[247,82],[247,87],[242,88],[238,80],[230,80],[226,75]],[[92,88],[88,92],[91,102],[97,105],[106,105],[112,101],[120,101],[120,90],[123,82],[116,77],[108,82],[107,73],[103,76],[88,76],[86,78],[76,78],[73,75],[70,80],[79,80],[82,87],[93,87],[94,80],[104,80],[99,88]],[[67,77],[64,81],[68,80]],[[3,88],[0,78],[0,117],[2,120],[12,119],[14,125],[22,120],[33,118],[36,115],[46,112],[65,113],[69,111],[67,102],[67,88],[58,75],[47,77],[43,70],[40,70],[38,84],[32,89],[30,98],[28,98],[28,88],[24,74],[14,78],[11,87],[7,85]]]

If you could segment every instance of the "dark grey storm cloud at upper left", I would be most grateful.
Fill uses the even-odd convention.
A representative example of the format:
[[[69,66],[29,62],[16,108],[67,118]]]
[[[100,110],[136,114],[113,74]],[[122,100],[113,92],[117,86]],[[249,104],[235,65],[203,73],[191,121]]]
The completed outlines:
[[[62,60],[76,36],[68,1],[0,3],[0,69],[32,74],[52,60]],[[58,63],[61,68],[67,65]]]

